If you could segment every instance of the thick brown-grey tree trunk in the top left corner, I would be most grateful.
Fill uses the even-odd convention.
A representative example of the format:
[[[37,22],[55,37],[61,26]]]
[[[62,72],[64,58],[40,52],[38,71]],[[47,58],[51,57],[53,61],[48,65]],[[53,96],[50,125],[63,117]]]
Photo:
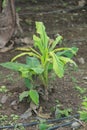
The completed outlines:
[[[2,1],[1,1],[2,4]],[[0,48],[4,48],[11,39],[16,27],[16,11],[14,0],[6,0],[6,6],[0,13]]]

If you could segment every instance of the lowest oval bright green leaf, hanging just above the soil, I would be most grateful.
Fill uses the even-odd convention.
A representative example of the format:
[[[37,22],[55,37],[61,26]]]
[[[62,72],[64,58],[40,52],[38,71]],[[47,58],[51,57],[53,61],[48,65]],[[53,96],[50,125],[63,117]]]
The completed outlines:
[[[36,90],[31,89],[31,90],[29,91],[29,95],[30,95],[31,100],[32,100],[36,105],[38,105],[38,104],[39,104],[39,94],[38,94],[38,92],[37,92]]]

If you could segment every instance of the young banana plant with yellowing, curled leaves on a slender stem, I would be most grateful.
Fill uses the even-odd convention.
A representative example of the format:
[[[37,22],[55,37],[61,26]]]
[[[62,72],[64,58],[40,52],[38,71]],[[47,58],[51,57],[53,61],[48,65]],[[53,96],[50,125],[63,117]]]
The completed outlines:
[[[58,47],[57,45],[63,39],[62,36],[58,35],[55,40],[51,40],[47,36],[45,26],[42,22],[36,22],[36,33],[37,35],[33,35],[34,47],[18,48],[18,50],[23,52],[15,56],[8,65],[5,65],[5,63],[1,65],[10,68],[9,64],[17,64],[13,62],[17,58],[28,55],[26,66],[28,69],[26,69],[25,77],[28,78],[30,75],[29,70],[32,70],[32,75],[36,74],[41,79],[46,97],[48,97],[49,72],[54,71],[59,78],[62,78],[64,76],[64,67],[67,63],[76,66],[76,63],[71,58],[76,54],[78,49],[76,47]]]

